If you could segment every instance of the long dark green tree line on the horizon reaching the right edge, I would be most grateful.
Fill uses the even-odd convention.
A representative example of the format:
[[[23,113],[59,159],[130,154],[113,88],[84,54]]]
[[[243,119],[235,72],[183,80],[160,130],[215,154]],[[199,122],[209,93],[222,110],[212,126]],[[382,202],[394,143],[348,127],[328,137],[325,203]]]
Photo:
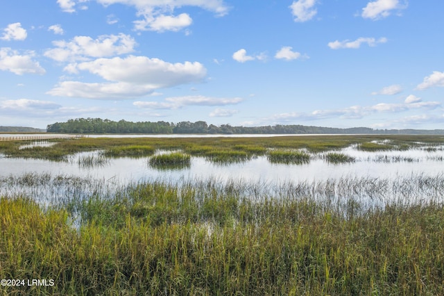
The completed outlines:
[[[338,129],[322,126],[303,126],[299,124],[274,126],[231,126],[230,124],[207,124],[197,122],[128,122],[120,120],[102,120],[101,118],[77,118],[67,122],[49,124],[48,133],[207,133],[207,134],[444,134],[444,130],[415,130],[415,129],[370,129],[367,127],[354,127]]]

